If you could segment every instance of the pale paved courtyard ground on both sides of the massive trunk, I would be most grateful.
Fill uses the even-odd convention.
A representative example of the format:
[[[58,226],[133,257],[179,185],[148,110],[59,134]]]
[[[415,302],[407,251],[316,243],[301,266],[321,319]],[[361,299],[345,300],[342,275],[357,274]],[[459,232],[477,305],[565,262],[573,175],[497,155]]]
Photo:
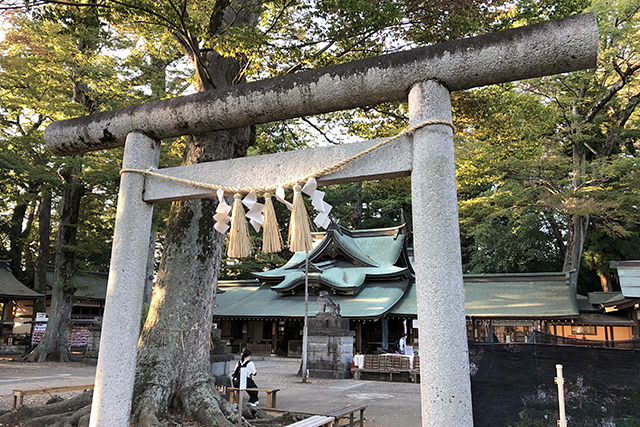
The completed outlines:
[[[363,404],[368,406],[365,412],[368,427],[421,425],[419,384],[315,378],[302,383],[297,376],[299,359],[256,358],[254,363],[258,370],[255,378],[258,386],[280,389],[277,400],[280,409],[326,412]],[[11,407],[14,389],[90,384],[94,375],[95,366],[86,363],[35,364],[0,358],[0,409]],[[28,396],[25,404],[44,404],[47,399],[48,396]],[[264,393],[260,394],[260,399],[260,406],[263,406],[266,403]]]

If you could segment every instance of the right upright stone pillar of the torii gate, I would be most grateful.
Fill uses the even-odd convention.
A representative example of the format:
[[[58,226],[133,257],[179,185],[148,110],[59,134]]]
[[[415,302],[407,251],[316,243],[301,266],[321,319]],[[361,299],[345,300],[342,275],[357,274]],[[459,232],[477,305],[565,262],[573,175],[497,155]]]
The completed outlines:
[[[446,87],[415,85],[410,122],[451,120]],[[453,132],[443,125],[414,133],[411,197],[420,330],[423,426],[472,426]],[[428,380],[424,380],[428,379]]]

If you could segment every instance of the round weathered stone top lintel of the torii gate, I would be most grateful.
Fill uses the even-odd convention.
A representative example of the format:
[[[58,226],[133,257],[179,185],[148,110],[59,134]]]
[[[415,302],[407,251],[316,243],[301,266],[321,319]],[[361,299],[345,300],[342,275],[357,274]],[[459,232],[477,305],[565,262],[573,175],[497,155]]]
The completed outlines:
[[[436,80],[450,91],[595,68],[592,13],[440,43],[52,123],[51,150],[78,154],[155,139],[405,100],[412,85]]]

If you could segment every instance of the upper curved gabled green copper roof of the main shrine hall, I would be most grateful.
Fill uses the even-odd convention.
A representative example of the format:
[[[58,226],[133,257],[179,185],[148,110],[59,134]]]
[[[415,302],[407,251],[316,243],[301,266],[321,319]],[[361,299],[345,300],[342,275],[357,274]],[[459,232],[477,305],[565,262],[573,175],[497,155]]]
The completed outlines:
[[[355,293],[366,280],[406,279],[407,267],[397,265],[404,234],[400,228],[349,231],[330,228],[318,233],[309,253],[309,281],[339,293]],[[305,254],[298,252],[282,267],[253,273],[277,292],[291,292],[304,284]],[[278,282],[278,283],[275,283]]]

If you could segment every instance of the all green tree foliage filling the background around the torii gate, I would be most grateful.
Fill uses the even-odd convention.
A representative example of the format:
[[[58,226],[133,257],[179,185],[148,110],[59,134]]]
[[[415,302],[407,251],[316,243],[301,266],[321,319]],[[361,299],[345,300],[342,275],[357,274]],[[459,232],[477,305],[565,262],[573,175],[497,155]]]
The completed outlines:
[[[49,120],[164,98],[189,84],[196,90],[215,86],[217,77],[208,67],[216,55],[240,60],[237,81],[261,79],[555,19],[580,12],[587,2],[276,0],[236,9],[235,19],[225,17],[222,1],[189,0],[182,8],[150,0],[107,0],[106,5],[51,5],[13,17],[16,31],[0,45],[0,166],[8,172],[0,176],[6,189],[0,190],[6,195],[0,201],[3,212],[17,202],[33,205],[42,189],[59,186],[55,171],[62,161],[42,144]],[[591,8],[602,40],[597,70],[453,95],[468,271],[561,268],[575,215],[590,218],[587,268],[607,274],[609,260],[638,253],[636,73],[628,72],[624,88],[603,98],[637,62],[637,5],[597,1]],[[126,54],[113,55],[116,50]],[[70,81],[81,81],[86,90],[74,94]],[[71,102],[74,97],[82,102]],[[592,111],[601,100],[603,106]],[[406,105],[394,103],[258,125],[249,155],[383,138],[404,128],[406,116]],[[589,148],[576,185],[573,147],[582,143]],[[163,147],[162,165],[177,165],[183,148],[183,139]],[[77,248],[83,268],[102,269],[108,262],[120,155],[111,153],[83,159],[88,191]],[[334,221],[347,227],[411,219],[408,178],[332,186],[326,192]],[[165,211],[166,205],[157,209],[157,229],[164,226]],[[286,223],[286,210],[278,215]],[[8,242],[4,236],[3,242]],[[244,262],[225,262],[223,270],[226,277],[246,277],[277,262],[256,255],[245,270]]]

